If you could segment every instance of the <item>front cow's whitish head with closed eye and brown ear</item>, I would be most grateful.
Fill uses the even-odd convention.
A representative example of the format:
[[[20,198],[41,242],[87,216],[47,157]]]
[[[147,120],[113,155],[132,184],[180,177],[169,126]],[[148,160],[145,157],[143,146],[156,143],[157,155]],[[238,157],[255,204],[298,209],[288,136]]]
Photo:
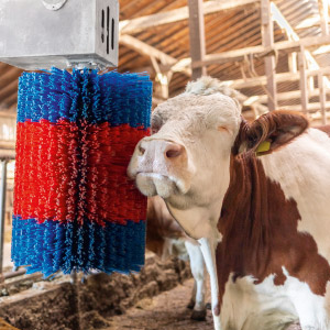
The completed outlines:
[[[165,200],[187,234],[215,235],[231,156],[254,153],[264,141],[270,153],[307,127],[302,116],[290,112],[270,113],[249,125],[239,102],[218,80],[204,77],[154,110],[153,134],[138,143],[128,174],[142,194]]]

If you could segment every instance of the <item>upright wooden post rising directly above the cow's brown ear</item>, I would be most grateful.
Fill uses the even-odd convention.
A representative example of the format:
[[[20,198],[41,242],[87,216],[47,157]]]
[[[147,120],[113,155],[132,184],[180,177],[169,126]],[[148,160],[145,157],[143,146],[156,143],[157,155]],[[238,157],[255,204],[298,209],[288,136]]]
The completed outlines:
[[[274,45],[274,24],[271,14],[270,0],[261,0],[261,16],[262,16],[262,37],[263,46],[273,47]],[[276,63],[275,56],[265,57],[265,74],[267,77],[267,90],[268,90],[268,109],[273,111],[277,108],[276,97]]]

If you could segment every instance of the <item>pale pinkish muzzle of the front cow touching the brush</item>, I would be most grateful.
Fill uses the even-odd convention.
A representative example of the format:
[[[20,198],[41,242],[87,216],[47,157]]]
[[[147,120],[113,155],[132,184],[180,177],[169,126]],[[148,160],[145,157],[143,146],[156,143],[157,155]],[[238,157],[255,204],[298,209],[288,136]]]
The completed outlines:
[[[191,177],[187,151],[172,141],[145,138],[135,147],[128,175],[145,196],[186,194]]]

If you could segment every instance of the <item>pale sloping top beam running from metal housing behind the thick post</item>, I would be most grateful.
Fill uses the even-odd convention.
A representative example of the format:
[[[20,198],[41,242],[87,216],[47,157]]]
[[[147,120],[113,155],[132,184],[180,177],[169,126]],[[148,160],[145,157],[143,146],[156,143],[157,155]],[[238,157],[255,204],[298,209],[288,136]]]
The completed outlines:
[[[254,6],[257,7],[257,2],[255,0],[231,0],[231,1],[223,1],[223,0],[213,0],[213,1],[206,1],[202,4],[204,13],[212,14],[219,11],[227,11],[238,9],[240,7],[245,6]],[[175,23],[184,20],[188,20],[189,11],[188,7],[182,7],[178,9],[169,10],[166,12],[161,12],[157,14],[151,14],[133,20],[125,20],[119,23],[119,31],[120,33],[138,33],[145,29],[155,28],[168,23]]]

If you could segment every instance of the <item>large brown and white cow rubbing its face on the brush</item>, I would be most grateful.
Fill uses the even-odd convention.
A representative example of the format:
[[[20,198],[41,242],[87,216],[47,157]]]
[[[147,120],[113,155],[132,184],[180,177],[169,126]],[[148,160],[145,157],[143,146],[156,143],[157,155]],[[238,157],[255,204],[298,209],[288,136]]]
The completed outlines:
[[[299,113],[251,124],[209,77],[160,105],[128,173],[198,240],[217,330],[330,329],[330,138]]]

